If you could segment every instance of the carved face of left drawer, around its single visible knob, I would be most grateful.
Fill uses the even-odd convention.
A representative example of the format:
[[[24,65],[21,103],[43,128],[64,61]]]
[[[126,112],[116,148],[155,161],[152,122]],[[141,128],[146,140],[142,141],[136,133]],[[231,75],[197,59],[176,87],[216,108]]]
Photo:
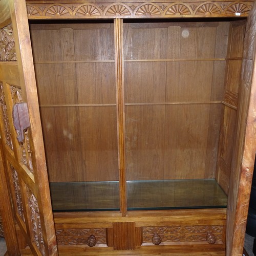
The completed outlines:
[[[97,244],[106,244],[105,228],[56,229],[59,245],[86,245],[92,235],[95,236]]]

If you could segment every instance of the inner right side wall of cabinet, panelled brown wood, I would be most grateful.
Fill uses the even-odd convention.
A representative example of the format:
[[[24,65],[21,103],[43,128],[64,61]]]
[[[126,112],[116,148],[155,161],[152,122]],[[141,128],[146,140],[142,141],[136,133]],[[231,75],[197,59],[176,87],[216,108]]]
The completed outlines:
[[[218,166],[216,174],[216,179],[224,189],[225,193],[228,193],[229,190],[229,177],[231,172],[232,150],[234,142],[234,126],[237,115],[244,33],[245,20],[230,22],[225,91],[222,101],[224,103],[224,112],[221,121]]]

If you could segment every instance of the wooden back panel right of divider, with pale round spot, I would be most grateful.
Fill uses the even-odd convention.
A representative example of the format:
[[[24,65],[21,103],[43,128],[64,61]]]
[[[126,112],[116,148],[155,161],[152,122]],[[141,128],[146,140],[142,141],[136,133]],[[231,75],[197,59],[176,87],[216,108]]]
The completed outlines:
[[[127,180],[215,177],[229,23],[125,23]]]

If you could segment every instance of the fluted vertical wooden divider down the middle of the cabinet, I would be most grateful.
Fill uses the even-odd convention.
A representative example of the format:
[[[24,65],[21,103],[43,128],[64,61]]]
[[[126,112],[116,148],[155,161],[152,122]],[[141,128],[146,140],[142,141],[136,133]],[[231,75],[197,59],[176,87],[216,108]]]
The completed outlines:
[[[122,217],[127,213],[126,174],[125,174],[125,141],[124,141],[124,89],[123,89],[123,23],[122,19],[114,19],[115,28],[115,67],[116,67],[116,101],[118,131],[118,168],[119,198]]]

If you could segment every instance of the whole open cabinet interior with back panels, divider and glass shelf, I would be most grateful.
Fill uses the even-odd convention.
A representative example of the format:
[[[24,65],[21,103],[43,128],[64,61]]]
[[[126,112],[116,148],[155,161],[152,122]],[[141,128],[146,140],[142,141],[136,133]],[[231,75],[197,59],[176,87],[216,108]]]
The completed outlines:
[[[31,21],[53,210],[226,207],[245,21]]]

